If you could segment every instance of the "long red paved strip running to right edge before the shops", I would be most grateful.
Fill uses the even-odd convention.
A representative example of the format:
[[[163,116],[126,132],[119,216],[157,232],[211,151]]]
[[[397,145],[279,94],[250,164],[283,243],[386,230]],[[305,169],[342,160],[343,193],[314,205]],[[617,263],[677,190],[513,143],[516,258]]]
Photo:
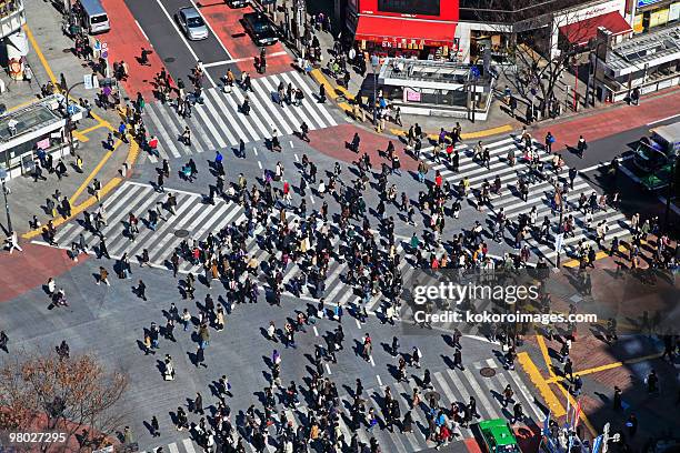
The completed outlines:
[[[576,117],[562,123],[547,125],[532,133],[536,140],[542,141],[548,131],[552,132],[558,144],[553,149],[562,149],[566,145],[576,145],[579,135],[592,142],[672,117],[678,113],[678,105],[680,105],[680,90],[667,90],[656,97],[646,97],[637,107],[621,104],[588,117]]]

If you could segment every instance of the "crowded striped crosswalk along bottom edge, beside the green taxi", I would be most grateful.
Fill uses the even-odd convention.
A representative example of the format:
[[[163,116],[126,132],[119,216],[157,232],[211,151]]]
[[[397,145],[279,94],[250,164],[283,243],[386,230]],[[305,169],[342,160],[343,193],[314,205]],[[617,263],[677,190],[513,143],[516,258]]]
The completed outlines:
[[[480,370],[482,368],[492,369],[494,374],[490,378],[482,378]],[[417,371],[413,374],[420,375],[422,372]],[[434,446],[434,443],[427,440],[428,436],[428,419],[427,419],[427,400],[424,395],[429,395],[429,392],[436,392],[438,403],[440,407],[449,410],[452,403],[459,405],[468,404],[470,396],[477,400],[477,412],[478,419],[473,419],[468,427],[463,427],[459,424],[456,425],[454,434],[456,440],[470,439],[474,436],[473,424],[474,421],[490,420],[490,419],[506,419],[509,422],[512,419],[512,406],[514,403],[521,403],[526,419],[522,423],[527,425],[540,426],[546,417],[539,403],[530,392],[529,387],[524,384],[522,376],[517,371],[506,370],[494,359],[487,359],[480,362],[472,363],[467,366],[464,371],[461,370],[442,370],[431,374],[432,387],[421,389],[421,403],[419,406],[411,407],[411,396],[413,389],[419,385],[419,382],[413,378],[410,378],[408,382],[391,382],[387,385],[380,385],[376,387],[366,389],[366,406],[373,407],[376,414],[379,417],[380,426],[384,422],[383,415],[383,397],[386,394],[386,387],[389,386],[391,394],[394,400],[398,401],[401,409],[401,414],[406,414],[407,411],[411,411],[413,425],[412,432],[401,433],[397,427],[391,433],[382,427],[376,427],[372,432],[368,432],[366,426],[357,430],[358,437],[363,443],[369,443],[370,437],[376,437],[382,451],[407,453],[418,452]],[[509,401],[507,406],[503,405],[502,394],[507,385],[513,391],[513,399]],[[351,395],[341,395],[342,403],[340,410],[340,430],[344,435],[346,442],[349,443],[354,431],[351,426]],[[304,425],[309,420],[308,413],[304,409],[297,407],[296,410],[286,409],[286,416],[289,421],[292,421],[293,427],[297,429],[299,425]],[[269,429],[270,434],[274,434],[276,424]],[[276,445],[273,440],[270,440],[267,445],[267,451],[270,453],[276,452]],[[252,445],[244,443],[247,451],[252,452]],[[194,446],[191,440],[183,440],[163,445],[164,452],[171,453],[194,453],[202,449]],[[154,452],[156,449],[149,450],[149,453]]]

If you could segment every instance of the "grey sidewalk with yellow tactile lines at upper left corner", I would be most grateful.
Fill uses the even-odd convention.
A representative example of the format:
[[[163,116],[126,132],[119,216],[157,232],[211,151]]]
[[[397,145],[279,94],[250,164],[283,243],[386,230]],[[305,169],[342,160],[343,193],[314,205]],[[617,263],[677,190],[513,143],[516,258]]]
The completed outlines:
[[[39,0],[28,0],[27,16],[29,23],[27,34],[31,43],[28,60],[36,73],[34,90],[39,90],[40,83],[47,83],[50,80],[58,82],[60,73],[68,74],[67,82],[74,83],[81,80],[81,73],[90,72],[87,63],[77,59],[69,51],[72,41],[62,34],[60,29],[61,16],[57,10],[44,7]],[[78,68],[78,70],[74,70],[74,68]],[[72,91],[72,98],[74,99],[88,98],[92,101],[93,97],[94,91],[87,91],[82,85]],[[94,178],[102,183],[103,197],[106,190],[111,189],[111,187],[107,187],[107,182],[120,175],[119,171],[123,162],[129,162],[130,167],[132,165],[138,152],[136,144],[128,145],[119,141],[116,143],[113,151],[107,151],[102,147],[107,134],[120,121],[118,113],[113,110],[101,111],[94,109],[93,117],[93,119],[81,120],[78,130],[73,133],[80,141],[77,154],[83,160],[82,173],[76,171],[76,157],[64,152],[54,155],[54,163],[59,159],[63,159],[68,168],[68,177],[62,180],[58,180],[56,174],[44,172],[43,175],[47,177],[47,181],[33,182],[31,177],[26,175],[8,182],[7,185],[11,191],[8,201],[12,215],[12,226],[16,231],[21,233],[30,230],[29,221],[33,215],[37,215],[38,220],[44,225],[52,218],[51,213],[44,209],[46,201],[52,198],[57,190],[61,193],[61,198],[69,198],[76,215],[82,209],[86,209],[84,207],[94,204],[96,200],[90,197],[88,191]],[[54,223],[60,224],[63,221],[63,218],[58,217]],[[2,219],[1,222],[4,225],[6,220]]]

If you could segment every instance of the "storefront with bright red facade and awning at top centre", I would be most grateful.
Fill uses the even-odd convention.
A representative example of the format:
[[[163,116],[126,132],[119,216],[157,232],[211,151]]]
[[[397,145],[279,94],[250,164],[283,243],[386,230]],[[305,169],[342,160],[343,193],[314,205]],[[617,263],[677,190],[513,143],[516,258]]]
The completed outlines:
[[[378,57],[450,60],[458,54],[457,0],[349,0],[347,26]]]

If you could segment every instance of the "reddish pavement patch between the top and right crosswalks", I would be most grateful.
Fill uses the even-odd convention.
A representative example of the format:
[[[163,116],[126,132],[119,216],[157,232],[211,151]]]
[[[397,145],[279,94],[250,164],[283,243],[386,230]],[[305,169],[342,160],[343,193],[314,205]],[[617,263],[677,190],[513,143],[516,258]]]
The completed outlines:
[[[347,148],[347,142],[352,140],[354,132],[359,132],[359,137],[361,138],[359,154]],[[381,135],[351,124],[340,124],[332,129],[311,131],[309,138],[311,140],[310,145],[313,149],[347,163],[356,161],[364,152],[368,152],[371,158],[371,164],[379,170],[381,162],[391,163],[381,155],[382,151],[387,150],[388,142],[391,140],[401,160],[401,169],[403,171],[418,170],[418,162],[406,154],[403,151],[403,143],[401,143],[398,138],[391,135]]]

